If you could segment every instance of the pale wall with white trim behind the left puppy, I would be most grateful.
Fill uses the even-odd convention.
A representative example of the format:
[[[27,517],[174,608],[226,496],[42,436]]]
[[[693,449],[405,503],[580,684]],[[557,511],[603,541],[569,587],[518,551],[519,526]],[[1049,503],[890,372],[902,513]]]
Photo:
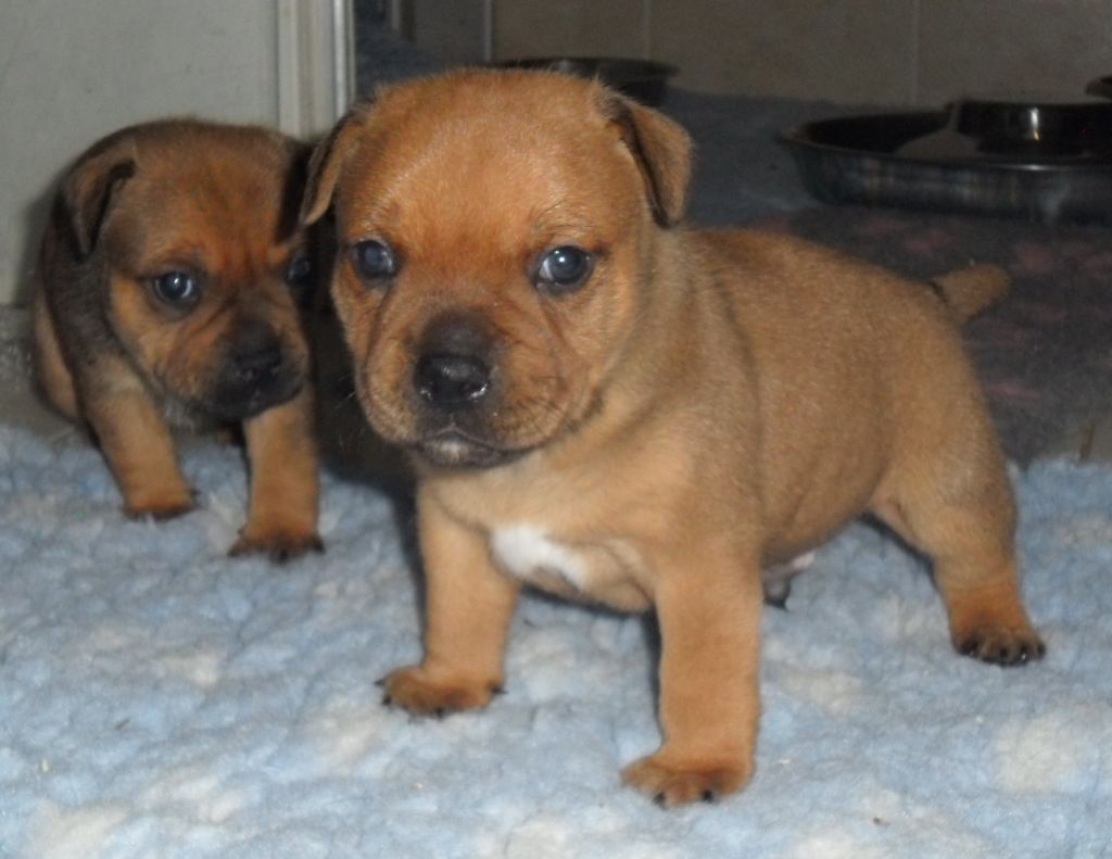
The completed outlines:
[[[0,0],[0,304],[26,302],[53,181],[97,138],[171,115],[281,120],[292,132],[307,129],[291,124],[319,126],[319,106],[290,108],[291,98],[319,91],[308,83],[328,87],[335,77],[332,42],[326,40],[328,56],[315,52],[320,27],[304,24],[322,21],[327,29],[342,6]],[[331,116],[334,106],[326,110]]]

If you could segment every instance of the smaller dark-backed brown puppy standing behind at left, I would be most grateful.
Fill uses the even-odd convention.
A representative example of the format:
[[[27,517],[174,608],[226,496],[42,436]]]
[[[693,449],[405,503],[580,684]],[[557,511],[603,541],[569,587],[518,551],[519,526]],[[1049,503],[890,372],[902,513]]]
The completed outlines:
[[[319,550],[309,352],[297,304],[308,148],[166,120],[100,140],[61,180],[34,294],[40,387],[91,428],[131,516],[193,506],[170,426],[242,427],[250,509],[231,553]]]

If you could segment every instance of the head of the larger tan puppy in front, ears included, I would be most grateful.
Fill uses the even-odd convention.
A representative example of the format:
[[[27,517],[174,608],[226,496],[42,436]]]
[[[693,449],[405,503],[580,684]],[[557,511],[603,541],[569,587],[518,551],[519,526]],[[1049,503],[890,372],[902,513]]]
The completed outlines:
[[[683,210],[686,134],[596,82],[466,71],[387,89],[318,147],[364,409],[440,465],[549,444],[606,397]]]

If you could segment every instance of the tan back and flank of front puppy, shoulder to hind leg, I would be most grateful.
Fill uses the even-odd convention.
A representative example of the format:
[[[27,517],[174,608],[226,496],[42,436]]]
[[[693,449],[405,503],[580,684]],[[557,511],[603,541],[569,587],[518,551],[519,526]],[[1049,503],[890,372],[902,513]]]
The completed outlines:
[[[893,463],[939,450],[969,422],[985,435],[954,316],[929,287],[793,237],[695,241],[718,260],[753,355],[762,484],[790,551],[837,529],[840,509],[867,506]]]

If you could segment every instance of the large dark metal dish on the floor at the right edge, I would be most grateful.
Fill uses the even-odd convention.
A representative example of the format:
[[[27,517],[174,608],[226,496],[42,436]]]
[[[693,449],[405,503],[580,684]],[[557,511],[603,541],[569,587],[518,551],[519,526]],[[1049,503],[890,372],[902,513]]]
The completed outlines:
[[[781,136],[828,203],[1112,223],[1112,103],[957,101]]]

